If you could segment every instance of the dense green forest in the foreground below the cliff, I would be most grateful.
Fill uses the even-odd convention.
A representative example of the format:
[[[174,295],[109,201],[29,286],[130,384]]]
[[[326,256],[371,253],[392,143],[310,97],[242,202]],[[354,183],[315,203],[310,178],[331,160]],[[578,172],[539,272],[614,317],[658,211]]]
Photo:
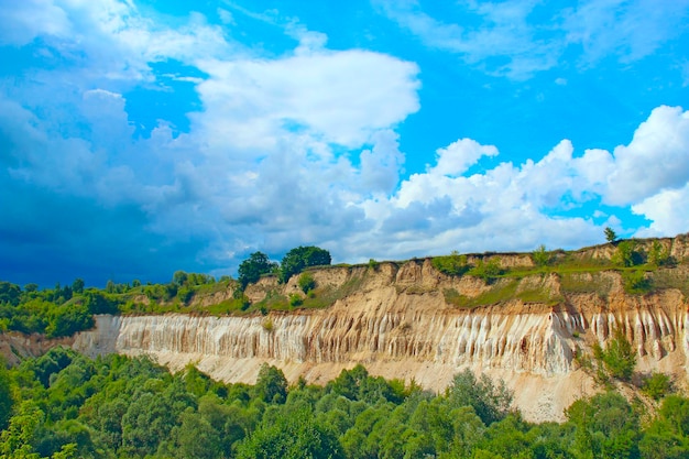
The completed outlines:
[[[326,386],[172,374],[146,358],[54,348],[0,368],[1,458],[687,458],[689,398],[650,414],[616,392],[531,424],[502,383],[458,373],[436,394],[358,365]]]

